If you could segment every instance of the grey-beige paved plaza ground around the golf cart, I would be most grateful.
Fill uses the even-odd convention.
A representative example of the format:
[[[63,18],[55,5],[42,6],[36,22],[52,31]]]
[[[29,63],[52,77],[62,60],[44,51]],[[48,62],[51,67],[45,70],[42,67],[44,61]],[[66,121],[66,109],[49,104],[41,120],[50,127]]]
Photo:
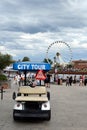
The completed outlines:
[[[87,130],[87,86],[51,84],[50,121],[14,122],[12,93],[17,89],[12,82],[11,89],[5,90],[0,99],[0,130]]]

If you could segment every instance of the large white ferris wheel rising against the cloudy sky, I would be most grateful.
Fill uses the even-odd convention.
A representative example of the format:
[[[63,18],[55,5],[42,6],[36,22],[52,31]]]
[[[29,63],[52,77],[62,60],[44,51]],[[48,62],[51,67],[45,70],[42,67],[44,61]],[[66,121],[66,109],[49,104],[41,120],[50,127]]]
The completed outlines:
[[[63,41],[56,41],[49,45],[46,51],[46,59],[49,62],[49,59],[65,65],[71,63],[72,61],[72,50],[70,46]]]

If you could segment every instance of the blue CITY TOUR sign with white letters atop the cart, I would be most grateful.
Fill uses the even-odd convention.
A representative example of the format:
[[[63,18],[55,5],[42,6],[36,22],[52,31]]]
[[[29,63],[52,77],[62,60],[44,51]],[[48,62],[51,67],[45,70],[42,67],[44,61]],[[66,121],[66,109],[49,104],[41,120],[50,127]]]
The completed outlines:
[[[31,63],[31,62],[15,62],[13,63],[14,70],[46,70],[51,69],[51,65],[48,63]]]

